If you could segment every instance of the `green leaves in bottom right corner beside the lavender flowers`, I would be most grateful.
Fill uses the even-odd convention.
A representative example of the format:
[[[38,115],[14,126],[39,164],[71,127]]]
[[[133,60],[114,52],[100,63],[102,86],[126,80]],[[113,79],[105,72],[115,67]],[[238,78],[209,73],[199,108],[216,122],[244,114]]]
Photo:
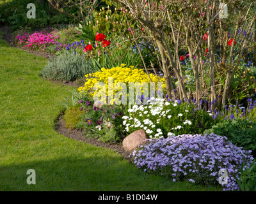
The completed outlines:
[[[246,164],[244,161],[241,166],[241,175],[239,175],[239,179],[236,179],[239,184],[240,191],[256,191],[256,162],[253,161],[250,166]]]

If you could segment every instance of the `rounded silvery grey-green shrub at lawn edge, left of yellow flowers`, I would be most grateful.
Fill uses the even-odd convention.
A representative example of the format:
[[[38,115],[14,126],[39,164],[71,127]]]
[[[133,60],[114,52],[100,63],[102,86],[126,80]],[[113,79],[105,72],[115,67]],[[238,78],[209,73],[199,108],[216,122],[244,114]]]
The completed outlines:
[[[85,61],[80,55],[65,51],[50,59],[47,66],[41,71],[41,75],[48,80],[73,81],[91,72],[89,61]]]

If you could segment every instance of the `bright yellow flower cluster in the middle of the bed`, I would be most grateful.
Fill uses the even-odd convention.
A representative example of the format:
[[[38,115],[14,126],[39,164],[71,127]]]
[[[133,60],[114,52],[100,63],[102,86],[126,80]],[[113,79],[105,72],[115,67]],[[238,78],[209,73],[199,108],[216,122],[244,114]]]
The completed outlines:
[[[142,69],[134,69],[134,66],[130,66],[129,68],[125,67],[126,64],[121,64],[116,68],[106,69],[101,68],[101,71],[97,71],[95,73],[90,73],[85,75],[86,82],[83,87],[79,87],[78,91],[83,94],[84,92],[89,92],[90,96],[95,96],[98,90],[94,90],[93,87],[97,82],[103,82],[106,85],[106,91],[108,95],[108,80],[109,77],[113,77],[113,86],[118,82],[124,82],[127,85],[127,89],[129,86],[129,82],[147,82],[148,87],[150,83],[150,79],[148,78],[147,73],[145,73]],[[150,78],[152,82],[155,83],[155,88],[157,89],[157,77],[156,75],[150,74]],[[163,92],[166,90],[165,80],[164,78],[158,77],[159,82],[163,83]],[[142,89],[142,87],[141,87]],[[115,94],[118,90],[114,90],[113,93]],[[128,92],[128,90],[127,90]],[[143,92],[143,90],[141,90]],[[128,96],[128,94],[127,94]]]

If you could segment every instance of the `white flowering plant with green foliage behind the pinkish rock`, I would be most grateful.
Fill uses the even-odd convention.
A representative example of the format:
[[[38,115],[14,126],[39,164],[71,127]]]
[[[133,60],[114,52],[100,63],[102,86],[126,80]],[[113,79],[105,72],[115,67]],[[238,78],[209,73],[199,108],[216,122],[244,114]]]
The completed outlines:
[[[150,138],[200,134],[217,122],[195,104],[181,100],[150,98],[148,105],[134,105],[127,112],[122,117],[125,131],[144,129]]]

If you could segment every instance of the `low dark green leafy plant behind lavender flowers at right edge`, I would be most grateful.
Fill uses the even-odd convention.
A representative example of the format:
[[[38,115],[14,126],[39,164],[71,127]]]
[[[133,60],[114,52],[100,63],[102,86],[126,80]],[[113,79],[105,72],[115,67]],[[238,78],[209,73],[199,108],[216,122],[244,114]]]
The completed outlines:
[[[224,120],[205,130],[206,133],[226,136],[234,145],[252,150],[253,156],[256,156],[256,122],[247,119]]]

